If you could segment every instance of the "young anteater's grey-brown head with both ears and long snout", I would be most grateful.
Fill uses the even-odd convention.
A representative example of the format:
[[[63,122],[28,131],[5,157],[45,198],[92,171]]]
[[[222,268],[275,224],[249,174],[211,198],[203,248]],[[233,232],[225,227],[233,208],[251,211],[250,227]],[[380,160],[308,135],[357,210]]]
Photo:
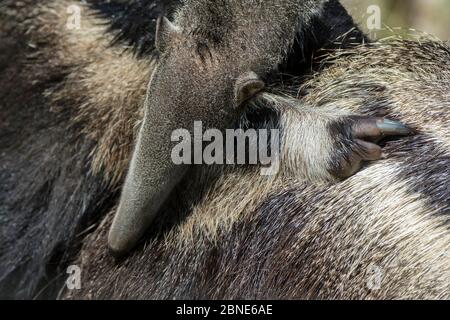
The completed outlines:
[[[186,166],[171,159],[171,135],[177,129],[225,129],[243,102],[264,83],[244,64],[233,65],[233,53],[213,46],[198,34],[183,32],[166,18],[157,22],[158,65],[148,87],[139,132],[118,211],[109,233],[116,255],[131,250],[142,237]],[[226,52],[226,54],[225,54]]]

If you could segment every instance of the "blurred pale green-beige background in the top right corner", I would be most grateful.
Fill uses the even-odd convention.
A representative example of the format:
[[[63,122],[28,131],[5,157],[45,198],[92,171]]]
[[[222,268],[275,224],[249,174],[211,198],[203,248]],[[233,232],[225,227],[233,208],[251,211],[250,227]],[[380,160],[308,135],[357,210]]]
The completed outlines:
[[[341,0],[341,3],[373,39],[391,36],[392,31],[386,30],[388,27],[393,28],[395,34],[407,37],[411,34],[408,29],[412,28],[450,40],[450,0]],[[382,30],[373,28],[374,14],[377,14],[374,5],[379,8]]]

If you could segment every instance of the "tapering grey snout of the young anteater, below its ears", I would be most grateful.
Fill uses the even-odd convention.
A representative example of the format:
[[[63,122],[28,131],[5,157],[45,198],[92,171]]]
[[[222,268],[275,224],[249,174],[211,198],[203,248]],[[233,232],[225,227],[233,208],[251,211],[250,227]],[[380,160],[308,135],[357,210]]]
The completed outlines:
[[[156,117],[156,118],[155,118]],[[138,243],[187,167],[171,159],[170,125],[163,114],[145,119],[140,130],[109,236],[113,255],[122,256]],[[153,121],[151,121],[153,120]]]

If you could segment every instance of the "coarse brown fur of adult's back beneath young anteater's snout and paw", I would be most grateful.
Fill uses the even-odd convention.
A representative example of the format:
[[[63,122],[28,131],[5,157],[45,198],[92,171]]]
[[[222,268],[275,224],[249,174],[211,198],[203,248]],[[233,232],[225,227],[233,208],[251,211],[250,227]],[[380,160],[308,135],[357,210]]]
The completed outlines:
[[[283,108],[285,125],[297,120],[285,109],[293,99],[387,114],[417,135],[331,185],[295,178],[295,158],[273,180],[257,168],[197,167],[165,208],[171,221],[121,263],[107,252],[112,210],[76,262],[82,289],[64,297],[448,299],[449,55],[449,44],[428,41],[339,51],[301,88],[281,86],[290,98],[262,95],[254,103]]]

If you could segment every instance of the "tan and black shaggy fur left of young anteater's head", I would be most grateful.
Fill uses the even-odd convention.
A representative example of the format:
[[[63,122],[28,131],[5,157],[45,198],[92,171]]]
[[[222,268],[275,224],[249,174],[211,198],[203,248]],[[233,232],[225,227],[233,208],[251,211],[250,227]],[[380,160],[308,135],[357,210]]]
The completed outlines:
[[[79,241],[115,205],[154,67],[149,21],[177,4],[0,4],[2,298],[54,297]],[[79,30],[67,28],[71,5]],[[317,49],[365,41],[337,1],[323,14],[280,71],[304,75]]]

